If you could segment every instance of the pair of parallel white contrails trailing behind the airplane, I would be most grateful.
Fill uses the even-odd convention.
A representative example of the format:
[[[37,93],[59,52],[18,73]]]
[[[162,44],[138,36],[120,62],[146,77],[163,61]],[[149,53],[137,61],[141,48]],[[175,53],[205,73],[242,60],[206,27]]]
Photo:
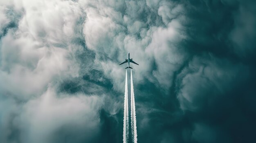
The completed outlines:
[[[129,136],[129,113],[128,113],[128,85],[127,85],[127,70],[125,79],[125,92],[124,92],[124,130],[123,130],[123,142],[128,143]],[[132,141],[137,143],[137,127],[136,127],[136,112],[135,112],[135,99],[133,92],[132,82],[132,70],[131,70],[131,129],[132,129]]]

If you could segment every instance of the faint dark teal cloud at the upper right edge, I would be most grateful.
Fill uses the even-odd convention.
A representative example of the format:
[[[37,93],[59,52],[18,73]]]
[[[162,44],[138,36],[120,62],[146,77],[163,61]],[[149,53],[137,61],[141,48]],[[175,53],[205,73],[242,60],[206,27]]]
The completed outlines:
[[[234,13],[234,29],[230,33],[230,39],[238,56],[245,59],[255,57],[255,3],[240,1],[239,9]]]

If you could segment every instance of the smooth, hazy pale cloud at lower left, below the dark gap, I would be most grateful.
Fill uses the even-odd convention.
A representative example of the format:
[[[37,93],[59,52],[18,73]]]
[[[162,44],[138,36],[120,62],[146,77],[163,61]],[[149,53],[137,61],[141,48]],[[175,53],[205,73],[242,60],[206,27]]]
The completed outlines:
[[[26,136],[23,142],[52,142],[51,134],[65,126],[70,129],[67,134],[73,136],[76,132],[97,133],[99,128],[98,110],[103,105],[103,97],[57,95],[51,88],[38,99],[26,103],[20,115],[22,135]],[[96,135],[96,134],[94,134]],[[27,138],[27,139],[26,139]],[[83,134],[83,138],[93,138],[91,134]]]

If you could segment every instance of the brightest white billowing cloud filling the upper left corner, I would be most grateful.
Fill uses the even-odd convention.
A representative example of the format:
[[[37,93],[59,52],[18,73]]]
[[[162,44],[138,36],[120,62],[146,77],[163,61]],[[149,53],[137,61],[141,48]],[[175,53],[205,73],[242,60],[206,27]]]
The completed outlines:
[[[17,3],[14,3],[17,4]],[[71,1],[23,0],[25,11],[18,29],[1,39],[2,91],[19,99],[40,95],[51,82],[78,74],[72,59],[81,17],[78,4]]]

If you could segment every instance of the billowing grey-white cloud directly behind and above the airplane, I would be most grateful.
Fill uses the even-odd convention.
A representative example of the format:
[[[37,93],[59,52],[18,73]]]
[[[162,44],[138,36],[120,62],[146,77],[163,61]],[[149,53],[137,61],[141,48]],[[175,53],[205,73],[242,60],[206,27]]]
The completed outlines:
[[[163,1],[161,5],[165,3],[168,2]],[[136,67],[138,72],[135,80],[141,81],[146,77],[168,89],[171,86],[170,81],[174,71],[179,69],[186,60],[186,52],[178,46],[178,43],[185,38],[182,25],[179,23],[182,19],[179,19],[183,11],[182,5],[176,7],[175,3],[168,3],[175,7],[173,11],[168,7],[159,8],[160,16],[166,21],[166,27],[164,27],[159,22],[155,26],[149,26],[148,21],[141,19],[143,16],[153,16],[153,14],[159,17],[154,11],[150,11],[143,1],[126,2],[125,13],[114,11],[111,7],[104,7],[105,3],[94,1],[90,4],[101,8],[83,6],[87,14],[83,33],[88,48],[96,54],[95,64],[99,66],[97,69],[103,70],[105,74],[115,72],[115,75],[124,75],[118,72],[121,66],[115,68],[111,59],[121,62],[130,52],[135,61],[141,61],[140,66]],[[164,9],[169,11],[167,15],[161,12]],[[137,13],[134,13],[135,10]],[[171,15],[175,15],[177,20],[166,20]],[[141,38],[138,39],[138,36]],[[100,64],[101,61],[104,64]],[[166,66],[170,64],[172,66]],[[154,70],[150,73],[152,69]],[[140,73],[147,74],[140,75]],[[121,79],[117,77],[112,79],[114,85],[120,85]],[[115,82],[117,79],[119,82]]]

